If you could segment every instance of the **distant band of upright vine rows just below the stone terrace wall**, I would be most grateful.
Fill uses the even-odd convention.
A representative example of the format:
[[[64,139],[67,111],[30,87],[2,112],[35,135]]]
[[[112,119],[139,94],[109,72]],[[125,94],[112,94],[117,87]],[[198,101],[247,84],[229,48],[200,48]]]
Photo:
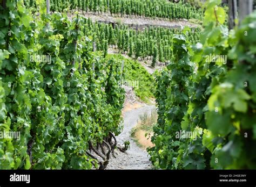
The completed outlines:
[[[127,53],[130,57],[143,60],[147,57],[153,57],[156,61],[167,62],[172,54],[171,48],[172,38],[174,34],[181,34],[179,29],[149,27],[144,30],[134,30],[126,25],[116,25],[104,23],[92,23],[90,19],[85,21],[84,33],[96,42],[98,51],[107,54],[109,45],[118,48],[119,52]],[[188,30],[186,37],[193,44],[199,41],[199,33],[201,28],[193,28]],[[156,61],[154,63],[156,63]],[[154,66],[153,63],[153,66]]]

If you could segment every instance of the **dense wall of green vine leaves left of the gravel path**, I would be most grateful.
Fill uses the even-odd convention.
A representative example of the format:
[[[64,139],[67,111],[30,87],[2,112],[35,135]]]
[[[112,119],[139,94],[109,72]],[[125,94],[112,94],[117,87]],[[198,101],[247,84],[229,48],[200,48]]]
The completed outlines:
[[[120,133],[121,64],[92,52],[84,18],[32,19],[21,1],[1,6],[1,169],[90,169],[88,142]],[[50,61],[32,56],[50,56]]]

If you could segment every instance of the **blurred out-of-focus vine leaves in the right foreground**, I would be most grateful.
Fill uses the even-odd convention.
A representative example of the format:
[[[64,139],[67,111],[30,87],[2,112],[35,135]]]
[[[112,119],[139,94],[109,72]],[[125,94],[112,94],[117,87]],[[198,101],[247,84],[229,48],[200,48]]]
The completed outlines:
[[[206,125],[211,130],[210,140],[214,146],[213,168],[255,168],[255,18],[254,12],[235,32],[237,42],[228,51],[233,67],[218,84],[212,85],[212,95],[207,102]],[[215,107],[218,112],[213,111]]]

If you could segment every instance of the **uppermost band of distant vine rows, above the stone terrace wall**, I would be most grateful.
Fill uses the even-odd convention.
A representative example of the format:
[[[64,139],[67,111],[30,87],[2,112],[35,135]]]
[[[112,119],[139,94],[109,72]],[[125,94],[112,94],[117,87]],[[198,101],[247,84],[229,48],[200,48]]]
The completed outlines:
[[[25,0],[26,6],[36,7],[35,0]],[[166,0],[52,0],[51,11],[80,9],[85,12],[110,12],[120,16],[136,15],[171,19],[202,19],[203,11],[180,1],[172,3]]]

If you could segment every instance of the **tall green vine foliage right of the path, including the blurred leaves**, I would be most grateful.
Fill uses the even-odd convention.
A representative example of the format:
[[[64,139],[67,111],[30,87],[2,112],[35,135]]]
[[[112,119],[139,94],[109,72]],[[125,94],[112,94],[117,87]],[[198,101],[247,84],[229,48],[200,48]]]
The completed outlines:
[[[255,167],[255,13],[228,32],[220,3],[207,3],[201,43],[173,38],[176,56],[156,78],[156,146],[148,151],[157,168]],[[177,140],[181,130],[196,138]]]

